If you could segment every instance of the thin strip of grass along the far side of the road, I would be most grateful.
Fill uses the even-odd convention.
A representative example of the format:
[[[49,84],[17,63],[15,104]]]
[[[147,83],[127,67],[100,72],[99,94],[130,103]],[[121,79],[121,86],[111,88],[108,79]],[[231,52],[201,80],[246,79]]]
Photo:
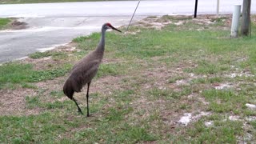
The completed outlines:
[[[46,2],[98,2],[114,0],[0,0],[0,4],[46,3]]]

